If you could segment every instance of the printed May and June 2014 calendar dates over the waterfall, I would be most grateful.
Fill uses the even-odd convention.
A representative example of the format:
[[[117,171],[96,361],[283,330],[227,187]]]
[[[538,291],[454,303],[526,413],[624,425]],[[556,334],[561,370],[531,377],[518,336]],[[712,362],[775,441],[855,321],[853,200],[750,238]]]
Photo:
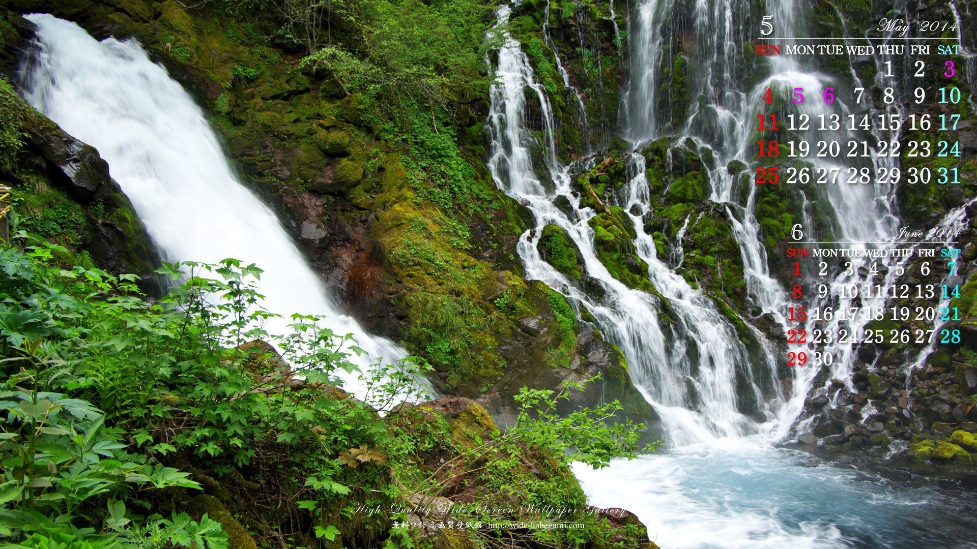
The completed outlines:
[[[787,366],[857,365],[865,346],[919,352],[958,347],[960,330],[966,329],[960,324],[965,312],[957,306],[964,283],[960,267],[977,250],[961,249],[956,236],[977,212],[864,242],[835,241],[811,214],[817,207],[811,196],[819,189],[843,193],[876,186],[871,192],[884,199],[897,188],[912,193],[958,186],[963,171],[973,171],[967,162],[977,144],[967,141],[970,121],[961,122],[974,110],[960,89],[960,63],[966,59],[958,45],[930,42],[958,27],[947,21],[915,24],[918,31],[904,39],[763,38],[756,46],[758,55],[767,56],[888,60],[860,86],[831,86],[798,74],[796,82],[772,80],[748,100],[755,107],[752,183],[796,186],[808,199],[802,222],[790,228],[790,247],[782,250],[781,274],[794,280],[781,312]],[[763,33],[776,33],[772,23],[764,25]]]

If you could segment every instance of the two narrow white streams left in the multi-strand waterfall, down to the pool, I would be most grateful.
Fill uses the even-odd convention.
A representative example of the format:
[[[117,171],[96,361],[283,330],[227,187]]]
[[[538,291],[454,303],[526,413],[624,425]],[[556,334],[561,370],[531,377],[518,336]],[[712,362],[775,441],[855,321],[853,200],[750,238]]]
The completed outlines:
[[[510,14],[509,7],[499,8],[496,28],[504,28]],[[604,296],[599,300],[588,296],[575,281],[543,261],[529,232],[517,244],[526,276],[542,280],[571,298],[575,307],[590,312],[601,332],[628,360],[635,384],[661,416],[669,443],[683,445],[756,433],[756,425],[737,409],[736,370],[738,364],[748,363],[743,343],[711,298],[690,287],[656,257],[655,243],[645,234],[640,215],[629,214],[638,232],[635,246],[639,257],[650,265],[651,280],[675,318],[666,331],[659,318],[659,298],[627,287],[597,259],[594,231],[587,224],[597,212],[577,209],[571,219],[554,204],[561,195],[576,202],[570,167],[556,160],[551,133],[555,124],[544,88],[535,82],[519,44],[503,36],[496,83],[490,90],[488,167],[500,189],[528,204],[535,216],[535,232],[553,224],[573,239],[586,273],[601,285]],[[542,106],[541,141],[525,127],[524,90],[531,90]],[[533,151],[541,152],[545,166],[532,165]],[[631,168],[636,175],[621,205],[644,213],[650,206],[644,158],[634,155],[632,162],[641,165]],[[540,168],[548,172],[549,182],[540,181]]]

